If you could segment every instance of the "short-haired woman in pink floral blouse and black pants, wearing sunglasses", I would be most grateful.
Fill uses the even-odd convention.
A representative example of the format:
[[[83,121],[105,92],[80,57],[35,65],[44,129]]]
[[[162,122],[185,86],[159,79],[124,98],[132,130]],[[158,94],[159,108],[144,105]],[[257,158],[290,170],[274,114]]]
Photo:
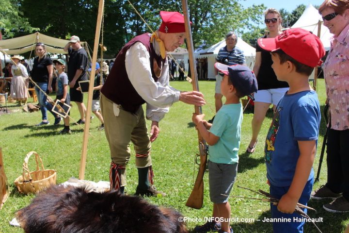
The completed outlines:
[[[327,183],[313,199],[335,199],[323,208],[349,212],[349,0],[325,0],[318,9],[334,34],[324,64],[331,120],[327,139]]]

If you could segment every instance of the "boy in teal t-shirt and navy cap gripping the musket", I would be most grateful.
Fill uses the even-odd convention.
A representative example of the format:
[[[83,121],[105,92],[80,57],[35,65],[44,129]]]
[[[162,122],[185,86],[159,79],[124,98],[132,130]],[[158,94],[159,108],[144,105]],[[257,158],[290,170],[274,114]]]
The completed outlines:
[[[238,171],[238,150],[242,122],[240,98],[257,91],[257,80],[246,66],[226,66],[216,63],[223,74],[221,93],[225,104],[217,112],[213,123],[204,120],[204,114],[192,116],[192,121],[209,145],[208,170],[210,200],[213,202],[213,221],[195,227],[195,232],[219,230],[231,233],[229,227],[230,205],[228,197]],[[209,131],[208,131],[209,130]]]

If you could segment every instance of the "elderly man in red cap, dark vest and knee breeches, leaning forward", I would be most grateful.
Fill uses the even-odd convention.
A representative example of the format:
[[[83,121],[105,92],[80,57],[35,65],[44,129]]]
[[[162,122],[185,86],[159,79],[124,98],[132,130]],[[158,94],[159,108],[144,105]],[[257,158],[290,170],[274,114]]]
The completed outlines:
[[[159,134],[159,121],[174,102],[202,106],[206,102],[197,91],[181,92],[169,85],[167,51],[184,43],[184,17],[178,12],[161,11],[162,23],[155,33],[144,33],[130,40],[116,56],[101,89],[101,109],[111,150],[111,188],[124,192],[130,142],[136,152],[138,186],[136,195],[165,194],[153,185],[151,142]],[[147,133],[146,118],[152,121]]]

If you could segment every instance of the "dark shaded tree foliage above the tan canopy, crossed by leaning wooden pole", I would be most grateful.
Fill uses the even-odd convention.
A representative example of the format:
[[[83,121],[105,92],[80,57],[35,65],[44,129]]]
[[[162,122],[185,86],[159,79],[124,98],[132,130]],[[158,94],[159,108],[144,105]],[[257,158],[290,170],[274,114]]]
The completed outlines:
[[[121,8],[121,1],[105,0],[103,44],[108,49],[106,54],[111,57],[125,43],[125,20]],[[42,33],[62,39],[78,35],[88,45],[94,44],[97,0],[22,0],[20,9],[31,25],[40,28]]]

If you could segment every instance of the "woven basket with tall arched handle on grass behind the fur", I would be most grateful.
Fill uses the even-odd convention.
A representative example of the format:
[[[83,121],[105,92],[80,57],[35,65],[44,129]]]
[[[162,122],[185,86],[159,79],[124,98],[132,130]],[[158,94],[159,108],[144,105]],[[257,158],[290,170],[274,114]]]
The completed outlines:
[[[28,161],[32,154],[35,154],[36,170],[29,171]],[[41,168],[39,169],[39,161]],[[52,169],[45,169],[44,164],[38,153],[35,151],[29,152],[24,158],[23,174],[15,180],[15,184],[20,193],[38,193],[50,185],[55,185],[57,172]]]

